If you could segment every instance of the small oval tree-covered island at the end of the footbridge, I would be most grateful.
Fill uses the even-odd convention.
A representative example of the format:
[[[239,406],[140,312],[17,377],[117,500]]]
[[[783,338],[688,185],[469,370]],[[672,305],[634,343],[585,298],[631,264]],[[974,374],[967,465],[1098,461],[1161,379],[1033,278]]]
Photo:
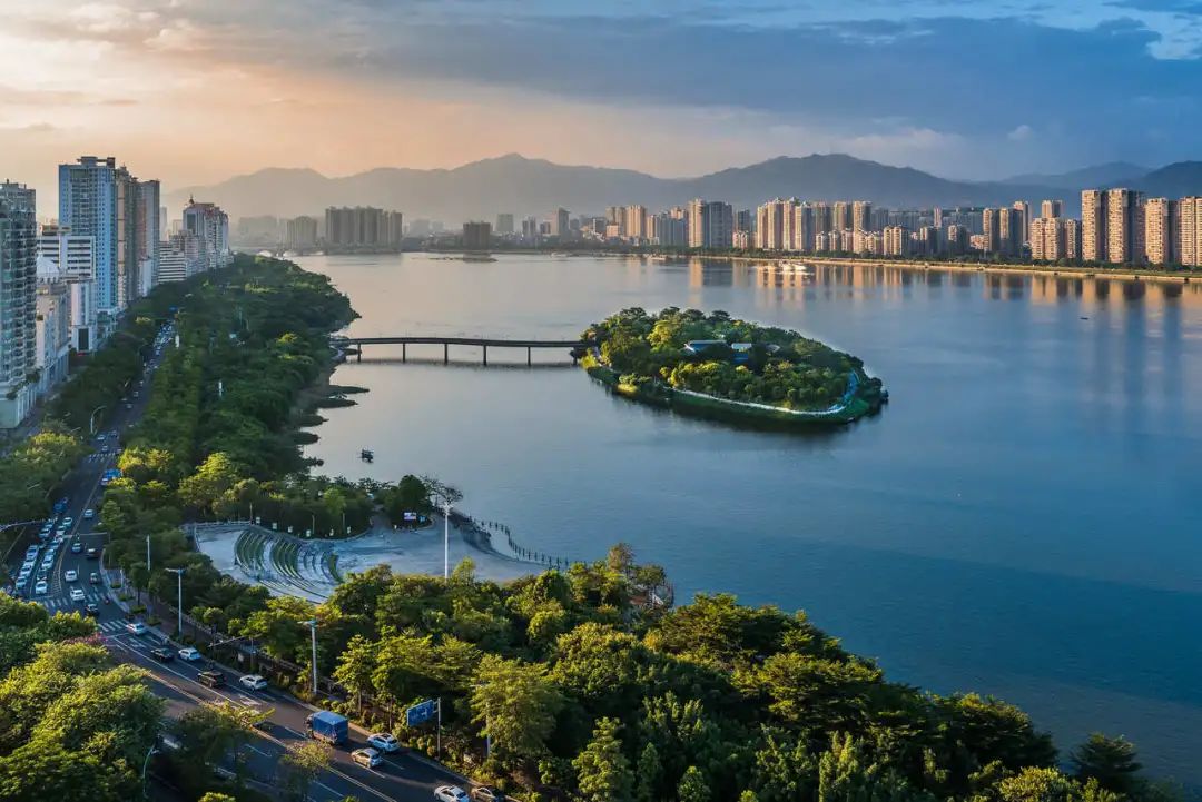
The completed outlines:
[[[629,399],[684,414],[786,426],[847,424],[888,401],[851,354],[797,331],[670,306],[625,309],[591,325],[581,360]]]

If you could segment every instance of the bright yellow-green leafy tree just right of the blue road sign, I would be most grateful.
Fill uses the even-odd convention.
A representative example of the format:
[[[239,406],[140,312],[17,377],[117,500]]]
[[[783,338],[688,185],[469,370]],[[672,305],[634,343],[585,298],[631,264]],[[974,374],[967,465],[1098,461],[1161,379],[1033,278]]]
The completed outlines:
[[[543,666],[495,654],[481,659],[471,693],[472,720],[484,725],[501,753],[518,759],[543,754],[563,705]]]

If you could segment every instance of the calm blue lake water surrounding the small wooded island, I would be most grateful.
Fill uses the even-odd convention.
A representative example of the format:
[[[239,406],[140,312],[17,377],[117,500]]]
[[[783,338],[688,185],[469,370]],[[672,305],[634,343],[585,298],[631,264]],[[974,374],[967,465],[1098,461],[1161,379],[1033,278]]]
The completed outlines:
[[[1063,747],[1125,734],[1202,782],[1202,287],[725,262],[310,257],[358,335],[576,336],[625,306],[724,309],[864,359],[893,402],[822,436],[608,396],[559,354],[368,349],[311,454],[429,472],[523,544],[617,540],[678,598],[804,608],[895,678],[1028,708]],[[418,360],[426,361],[415,361]],[[511,364],[499,365],[502,359]],[[357,456],[376,451],[374,466]]]

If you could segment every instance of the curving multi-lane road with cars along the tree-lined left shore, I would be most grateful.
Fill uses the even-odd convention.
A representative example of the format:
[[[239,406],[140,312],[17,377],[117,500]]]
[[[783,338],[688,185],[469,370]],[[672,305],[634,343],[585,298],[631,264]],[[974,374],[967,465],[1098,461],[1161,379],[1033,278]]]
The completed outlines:
[[[65,483],[61,496],[67,498],[67,505],[65,513],[55,517],[54,531],[59,531],[65,519],[71,519],[71,523],[65,527],[54,564],[48,571],[47,592],[42,594],[34,592],[35,574],[19,595],[42,604],[52,612],[84,611],[87,605],[95,605],[96,624],[106,646],[118,660],[138,665],[150,674],[151,687],[156,694],[167,700],[168,716],[172,718],[178,718],[206,701],[226,700],[258,710],[270,708],[270,718],[249,747],[251,774],[262,790],[270,792],[278,789],[275,777],[280,755],[305,740],[305,717],[315,708],[274,688],[263,692],[243,689],[238,684],[238,672],[207,660],[189,663],[175,658],[169,663],[160,663],[151,657],[150,650],[163,644],[171,645],[167,635],[154,629],[141,636],[126,632],[125,611],[109,597],[109,588],[102,581],[103,571],[100,568],[99,556],[105,547],[106,535],[96,531],[97,507],[103,490],[101,479],[105,471],[114,467],[117,462],[121,432],[145,412],[150,378],[160,361],[161,353],[156,353],[147,363],[144,381],[129,388],[126,399],[121,401],[107,430],[102,432],[103,439],[93,438],[94,450],[82,460]],[[87,516],[87,510],[93,510],[94,516]],[[50,543],[48,539],[38,552],[38,564]],[[73,551],[72,547],[77,543],[78,551]],[[89,553],[89,550],[95,551]],[[23,549],[13,550],[17,567],[23,557]],[[153,562],[154,553],[150,558]],[[67,580],[69,571],[75,571],[75,580]],[[93,581],[94,574],[96,581]],[[70,594],[73,588],[83,591],[84,598],[72,600]],[[174,651],[178,645],[172,648]],[[220,671],[226,678],[226,687],[210,689],[200,684],[197,675],[201,670]],[[351,742],[332,752],[329,771],[322,772],[310,789],[311,800],[332,802],[353,796],[363,802],[375,800],[428,802],[433,798],[433,790],[438,785],[468,788],[460,777],[422,755],[407,753],[388,755],[385,762],[374,770],[352,762],[351,750],[365,747],[367,735],[362,729],[352,728]]]

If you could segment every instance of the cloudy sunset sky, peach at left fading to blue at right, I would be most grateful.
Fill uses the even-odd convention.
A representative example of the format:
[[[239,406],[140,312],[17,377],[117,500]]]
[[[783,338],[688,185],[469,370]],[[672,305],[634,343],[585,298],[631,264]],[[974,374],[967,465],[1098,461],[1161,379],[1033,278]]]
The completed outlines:
[[[0,0],[0,178],[1202,157],[1202,0]]]

